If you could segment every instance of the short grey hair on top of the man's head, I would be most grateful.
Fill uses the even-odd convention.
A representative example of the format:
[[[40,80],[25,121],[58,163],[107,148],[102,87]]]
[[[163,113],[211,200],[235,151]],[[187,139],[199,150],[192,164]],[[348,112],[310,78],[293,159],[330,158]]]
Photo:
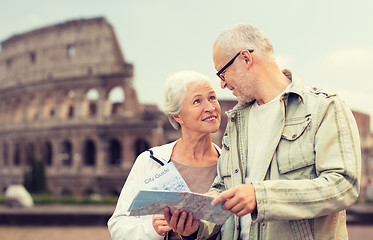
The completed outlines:
[[[222,48],[229,56],[234,56],[244,49],[254,49],[255,53],[274,58],[269,38],[250,24],[236,24],[223,30],[214,43],[214,48],[216,46]]]

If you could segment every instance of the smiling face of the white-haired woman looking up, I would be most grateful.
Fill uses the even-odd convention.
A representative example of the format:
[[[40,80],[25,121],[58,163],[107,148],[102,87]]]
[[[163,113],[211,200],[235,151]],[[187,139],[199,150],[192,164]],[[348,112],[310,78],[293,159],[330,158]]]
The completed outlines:
[[[183,132],[214,133],[219,130],[221,109],[209,82],[187,86],[181,112],[174,116]]]

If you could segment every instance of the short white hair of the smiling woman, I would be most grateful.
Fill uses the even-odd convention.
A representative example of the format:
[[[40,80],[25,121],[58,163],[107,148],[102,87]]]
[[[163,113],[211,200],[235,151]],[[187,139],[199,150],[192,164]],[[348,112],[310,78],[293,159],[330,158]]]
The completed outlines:
[[[173,116],[181,112],[188,85],[197,82],[209,82],[211,84],[207,76],[194,71],[176,72],[167,79],[163,111],[175,129],[179,129],[180,124],[176,122]]]

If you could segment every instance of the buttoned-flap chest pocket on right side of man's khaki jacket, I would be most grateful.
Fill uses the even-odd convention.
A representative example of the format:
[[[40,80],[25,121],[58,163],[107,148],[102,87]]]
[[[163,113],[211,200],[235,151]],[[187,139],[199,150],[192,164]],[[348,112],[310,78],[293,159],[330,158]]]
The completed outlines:
[[[276,158],[280,174],[287,179],[313,178],[315,174],[311,122],[311,115],[285,122]]]

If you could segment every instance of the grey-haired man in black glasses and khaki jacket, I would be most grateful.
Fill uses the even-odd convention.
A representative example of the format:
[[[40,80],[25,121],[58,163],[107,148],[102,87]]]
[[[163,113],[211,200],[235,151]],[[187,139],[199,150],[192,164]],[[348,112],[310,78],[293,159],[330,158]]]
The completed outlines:
[[[345,209],[359,195],[361,154],[351,110],[336,95],[281,71],[269,39],[248,24],[223,31],[213,48],[228,111],[212,205],[234,213],[223,239],[348,239]],[[189,216],[189,217],[188,217]],[[165,211],[184,239],[219,226]]]

